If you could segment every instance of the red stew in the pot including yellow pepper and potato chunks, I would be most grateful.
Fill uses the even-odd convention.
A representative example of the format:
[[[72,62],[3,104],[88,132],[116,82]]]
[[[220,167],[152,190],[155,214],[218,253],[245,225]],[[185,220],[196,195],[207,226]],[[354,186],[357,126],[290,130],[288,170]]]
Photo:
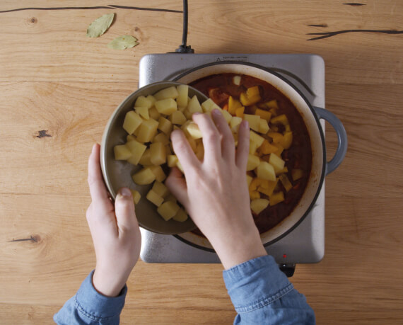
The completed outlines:
[[[190,86],[231,115],[235,143],[240,121],[249,122],[251,209],[259,232],[267,232],[291,214],[308,183],[312,151],[303,118],[283,93],[252,76],[216,74]]]

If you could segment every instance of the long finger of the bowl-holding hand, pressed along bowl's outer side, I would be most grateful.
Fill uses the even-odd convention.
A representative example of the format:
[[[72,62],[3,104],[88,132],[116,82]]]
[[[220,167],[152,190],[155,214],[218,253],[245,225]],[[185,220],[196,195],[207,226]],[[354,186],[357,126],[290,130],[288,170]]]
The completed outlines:
[[[88,186],[91,199],[96,205],[110,209],[110,203],[105,183],[100,169],[100,145],[94,144],[93,151],[88,159]]]

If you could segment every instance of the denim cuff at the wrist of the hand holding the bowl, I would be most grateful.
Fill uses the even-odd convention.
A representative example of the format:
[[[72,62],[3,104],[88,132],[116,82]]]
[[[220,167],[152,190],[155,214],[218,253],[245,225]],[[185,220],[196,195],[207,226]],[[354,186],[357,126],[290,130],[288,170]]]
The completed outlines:
[[[94,271],[83,281],[76,294],[75,304],[78,312],[94,321],[119,319],[124,307],[127,286],[124,285],[117,297],[106,297],[95,290],[93,286],[93,273]]]

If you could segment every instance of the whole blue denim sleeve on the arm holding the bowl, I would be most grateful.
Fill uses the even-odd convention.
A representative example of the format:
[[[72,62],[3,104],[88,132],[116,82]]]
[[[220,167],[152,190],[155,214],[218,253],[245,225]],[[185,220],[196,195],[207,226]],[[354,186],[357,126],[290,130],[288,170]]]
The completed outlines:
[[[101,295],[93,287],[93,272],[83,281],[76,295],[54,315],[53,320],[57,324],[119,324],[127,286],[117,297]]]

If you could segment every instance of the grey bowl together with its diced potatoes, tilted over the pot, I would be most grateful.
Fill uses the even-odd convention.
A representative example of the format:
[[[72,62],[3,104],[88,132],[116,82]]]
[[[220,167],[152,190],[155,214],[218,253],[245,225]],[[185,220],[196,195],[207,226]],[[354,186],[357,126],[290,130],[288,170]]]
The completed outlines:
[[[161,81],[130,94],[107,122],[100,151],[105,184],[114,199],[119,188],[132,190],[139,224],[151,232],[181,234],[196,228],[164,182],[171,167],[182,170],[170,132],[197,132],[192,114],[202,105],[213,109],[215,104],[191,86]],[[204,154],[201,141],[191,143],[197,156]]]

